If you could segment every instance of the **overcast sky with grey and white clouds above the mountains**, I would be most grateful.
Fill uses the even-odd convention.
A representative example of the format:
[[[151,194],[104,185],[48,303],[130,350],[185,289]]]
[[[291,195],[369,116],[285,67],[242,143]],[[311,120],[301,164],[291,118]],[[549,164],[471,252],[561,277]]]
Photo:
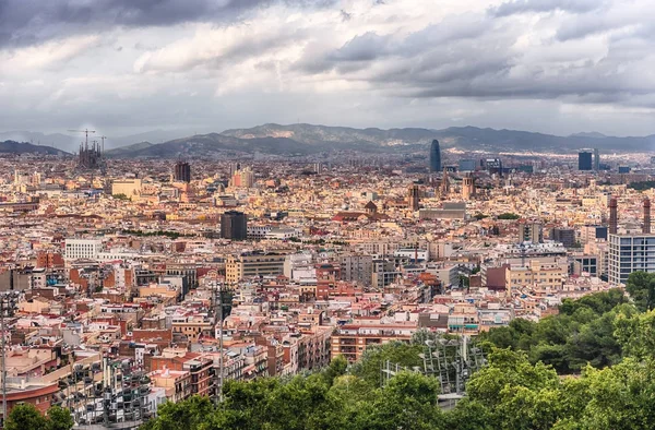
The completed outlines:
[[[655,133],[653,0],[0,0],[0,130]]]

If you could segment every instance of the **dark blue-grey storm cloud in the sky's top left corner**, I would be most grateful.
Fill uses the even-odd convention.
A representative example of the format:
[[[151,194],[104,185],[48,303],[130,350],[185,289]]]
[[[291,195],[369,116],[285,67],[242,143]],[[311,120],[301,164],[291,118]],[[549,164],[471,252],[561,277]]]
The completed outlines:
[[[276,3],[326,7],[333,0],[0,0],[0,48],[115,26],[222,22]]]

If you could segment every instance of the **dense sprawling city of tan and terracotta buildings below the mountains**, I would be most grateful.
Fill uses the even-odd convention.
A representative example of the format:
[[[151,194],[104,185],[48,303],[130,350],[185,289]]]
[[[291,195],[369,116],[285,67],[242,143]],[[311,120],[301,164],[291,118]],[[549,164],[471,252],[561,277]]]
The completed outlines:
[[[641,154],[480,156],[433,140],[373,159],[128,160],[85,142],[0,163],[7,410],[57,405],[80,428],[417,333],[538,322],[651,271],[655,249]],[[461,398],[464,382],[441,393]]]

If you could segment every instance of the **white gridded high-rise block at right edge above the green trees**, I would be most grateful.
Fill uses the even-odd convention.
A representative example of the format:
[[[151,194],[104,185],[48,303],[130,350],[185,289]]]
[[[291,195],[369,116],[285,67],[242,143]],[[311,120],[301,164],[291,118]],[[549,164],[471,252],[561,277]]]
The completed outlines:
[[[655,272],[655,235],[609,235],[609,284],[626,284],[632,272]]]

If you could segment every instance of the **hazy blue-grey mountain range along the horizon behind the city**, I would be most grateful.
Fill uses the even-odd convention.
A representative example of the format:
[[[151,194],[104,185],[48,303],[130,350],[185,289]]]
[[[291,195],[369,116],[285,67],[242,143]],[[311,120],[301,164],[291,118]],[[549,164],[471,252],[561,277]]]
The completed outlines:
[[[10,132],[17,133],[17,132]],[[28,132],[22,132],[28,133]],[[568,136],[516,130],[452,127],[442,130],[406,129],[354,129],[312,124],[263,124],[250,129],[231,129],[222,133],[193,134],[187,138],[165,140],[170,131],[153,131],[117,138],[109,157],[222,157],[245,154],[281,156],[308,155],[331,151],[357,151],[364,153],[413,153],[425,151],[433,140],[442,148],[456,147],[464,151],[489,153],[565,153],[581,148],[598,148],[603,152],[644,152],[655,148],[655,134],[636,138],[608,136],[597,132],[575,133]],[[75,138],[33,133],[41,142],[48,139],[71,140]],[[8,133],[0,133],[0,140]],[[78,138],[79,140],[79,138]],[[153,143],[153,142],[160,143]],[[162,142],[164,141],[164,142]],[[123,143],[117,146],[117,142]],[[34,146],[34,145],[33,145]],[[58,146],[58,145],[57,145]],[[48,146],[37,146],[48,147]],[[50,146],[51,148],[51,146]],[[74,152],[74,147],[71,152]]]

